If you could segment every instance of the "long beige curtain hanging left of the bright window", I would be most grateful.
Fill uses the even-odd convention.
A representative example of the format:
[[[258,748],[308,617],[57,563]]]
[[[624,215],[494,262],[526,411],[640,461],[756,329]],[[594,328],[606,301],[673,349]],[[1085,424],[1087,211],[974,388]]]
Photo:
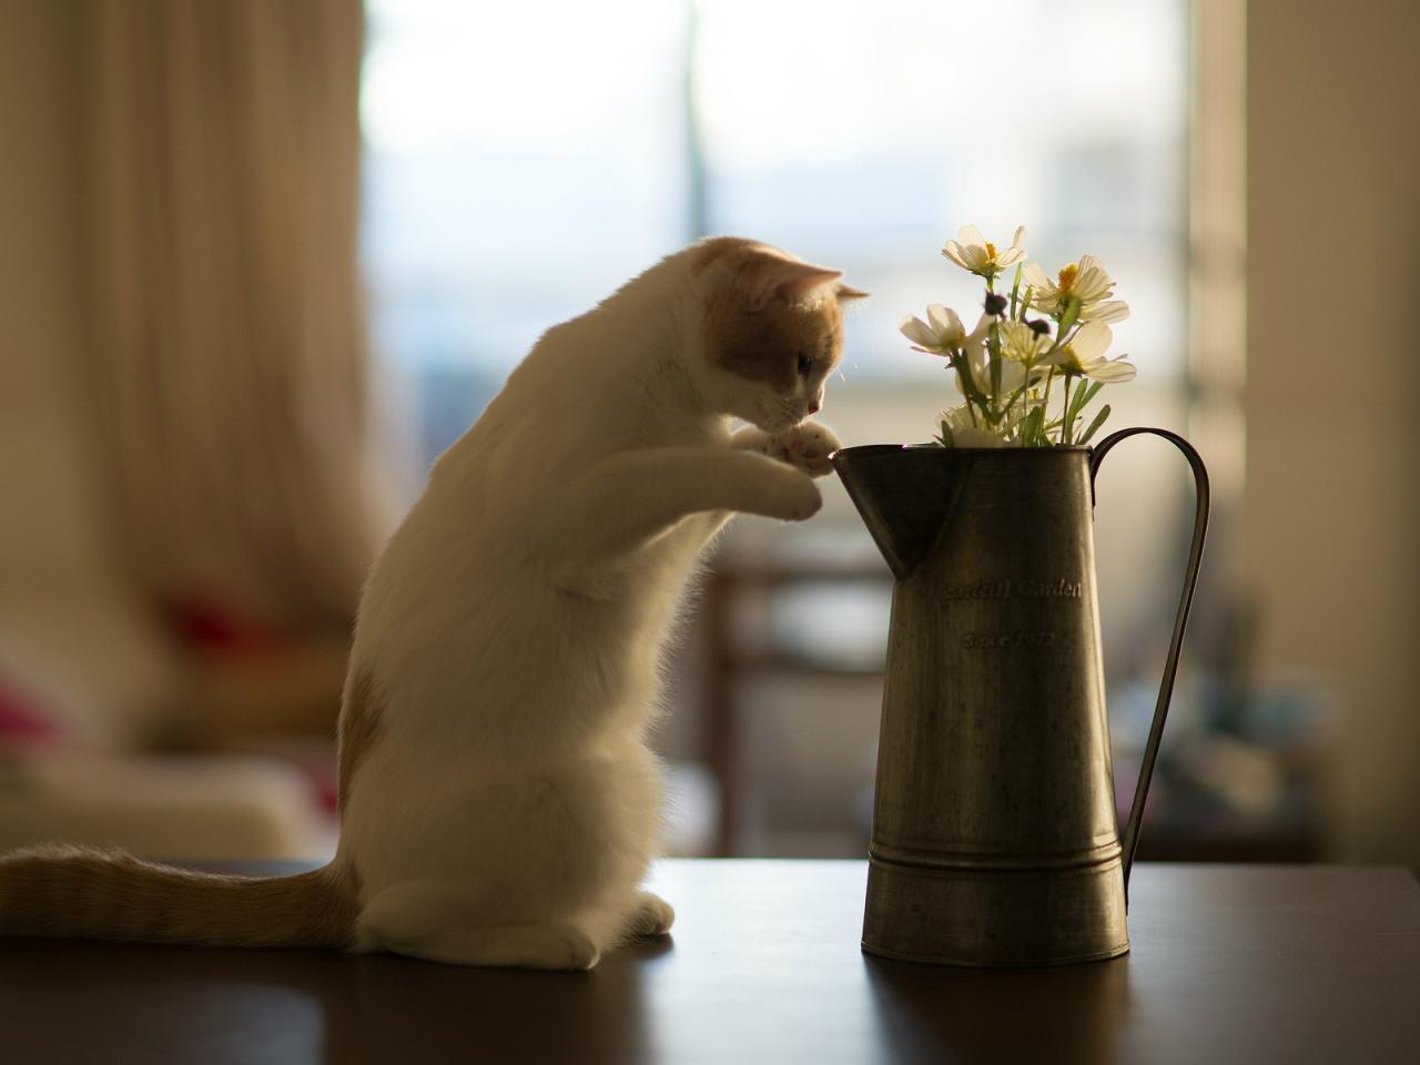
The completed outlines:
[[[348,626],[381,532],[358,0],[89,0],[94,433],[159,604]]]

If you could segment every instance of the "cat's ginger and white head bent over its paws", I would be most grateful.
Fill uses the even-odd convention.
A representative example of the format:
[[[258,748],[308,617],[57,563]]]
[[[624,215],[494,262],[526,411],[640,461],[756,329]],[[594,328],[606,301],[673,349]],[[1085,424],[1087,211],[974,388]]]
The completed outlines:
[[[690,355],[716,413],[780,432],[824,406],[824,382],[843,354],[843,305],[866,295],[841,277],[750,240],[696,248]]]

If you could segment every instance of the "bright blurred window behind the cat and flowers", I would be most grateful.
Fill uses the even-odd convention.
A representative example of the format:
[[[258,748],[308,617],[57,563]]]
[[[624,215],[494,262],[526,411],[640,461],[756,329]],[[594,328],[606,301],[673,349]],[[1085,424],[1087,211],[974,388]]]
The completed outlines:
[[[905,312],[974,302],[964,223],[1100,256],[1153,415],[1186,364],[1187,4],[1129,0],[371,0],[376,349],[429,462],[548,325],[704,233],[873,293],[839,386],[940,372]],[[1100,33],[1108,27],[1108,34]],[[1129,47],[1119,47],[1127,41]],[[967,307],[963,317],[970,312]]]

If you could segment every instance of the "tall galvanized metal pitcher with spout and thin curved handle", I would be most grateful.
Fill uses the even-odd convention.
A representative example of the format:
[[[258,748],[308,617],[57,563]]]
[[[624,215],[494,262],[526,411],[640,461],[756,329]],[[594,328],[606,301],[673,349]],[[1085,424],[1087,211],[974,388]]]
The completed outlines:
[[[1193,467],[1197,515],[1120,838],[1095,594],[1093,479],[1136,433]],[[1207,530],[1179,436],[1098,447],[846,447],[834,466],[893,591],[863,949],[964,966],[1129,950],[1129,868]]]

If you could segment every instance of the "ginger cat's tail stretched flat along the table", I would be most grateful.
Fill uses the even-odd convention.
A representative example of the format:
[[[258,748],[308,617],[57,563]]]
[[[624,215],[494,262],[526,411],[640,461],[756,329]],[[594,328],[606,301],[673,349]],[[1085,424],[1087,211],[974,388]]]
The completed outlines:
[[[0,856],[4,936],[344,949],[355,939],[356,914],[354,886],[331,866],[246,878],[78,846]]]

